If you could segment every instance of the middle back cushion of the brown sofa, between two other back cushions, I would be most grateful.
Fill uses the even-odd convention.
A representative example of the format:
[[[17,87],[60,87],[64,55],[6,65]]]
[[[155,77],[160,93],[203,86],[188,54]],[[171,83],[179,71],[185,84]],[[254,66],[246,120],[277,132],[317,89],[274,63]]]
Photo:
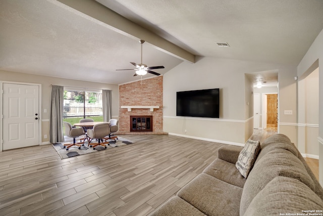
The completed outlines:
[[[251,200],[277,176],[299,180],[312,190],[315,187],[306,168],[294,154],[284,149],[270,151],[254,164],[246,180],[240,204],[242,214]]]

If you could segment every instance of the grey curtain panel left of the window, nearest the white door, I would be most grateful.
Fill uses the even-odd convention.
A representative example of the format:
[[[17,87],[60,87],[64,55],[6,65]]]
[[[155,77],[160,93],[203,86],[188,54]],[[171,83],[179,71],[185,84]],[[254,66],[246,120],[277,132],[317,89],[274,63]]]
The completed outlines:
[[[51,89],[49,142],[64,142],[63,135],[64,87],[53,85]]]

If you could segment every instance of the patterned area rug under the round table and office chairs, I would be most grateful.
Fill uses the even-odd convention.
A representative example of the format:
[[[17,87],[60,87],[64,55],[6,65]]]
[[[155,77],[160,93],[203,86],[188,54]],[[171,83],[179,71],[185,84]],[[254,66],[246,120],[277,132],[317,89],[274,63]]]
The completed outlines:
[[[82,155],[82,154],[88,154],[88,153],[92,153],[92,152],[107,150],[107,149],[118,147],[118,146],[125,146],[125,145],[129,145],[129,144],[133,144],[135,142],[133,142],[131,140],[127,140],[125,138],[118,137],[118,140],[111,141],[110,145],[106,144],[106,148],[104,148],[103,146],[96,146],[95,150],[93,150],[93,148],[91,148],[91,147],[90,148],[88,147],[87,141],[85,141],[84,146],[81,146],[81,149],[79,149],[78,146],[72,146],[69,148],[69,150],[66,150],[66,148],[64,148],[64,144],[68,144],[68,143],[72,144],[73,142],[52,144],[52,146],[54,147],[54,149],[57,151],[57,153],[60,155],[60,157],[62,159],[69,158],[69,157],[75,157],[75,156]],[[95,142],[91,142],[92,145],[94,143]]]

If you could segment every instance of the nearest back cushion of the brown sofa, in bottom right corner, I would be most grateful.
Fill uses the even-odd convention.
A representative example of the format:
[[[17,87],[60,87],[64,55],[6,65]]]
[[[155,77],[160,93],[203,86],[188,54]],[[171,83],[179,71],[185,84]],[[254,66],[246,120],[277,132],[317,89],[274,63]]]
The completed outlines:
[[[312,209],[323,209],[323,201],[310,188],[296,179],[276,177],[253,198],[243,215],[301,215],[302,210]]]

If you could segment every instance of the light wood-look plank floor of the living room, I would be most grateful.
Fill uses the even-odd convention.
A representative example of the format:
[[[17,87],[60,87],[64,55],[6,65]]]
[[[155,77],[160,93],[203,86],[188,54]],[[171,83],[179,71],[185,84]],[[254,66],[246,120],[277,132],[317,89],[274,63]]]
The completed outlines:
[[[224,144],[122,135],[135,144],[61,159],[51,145],[0,152],[0,215],[147,215]]]

